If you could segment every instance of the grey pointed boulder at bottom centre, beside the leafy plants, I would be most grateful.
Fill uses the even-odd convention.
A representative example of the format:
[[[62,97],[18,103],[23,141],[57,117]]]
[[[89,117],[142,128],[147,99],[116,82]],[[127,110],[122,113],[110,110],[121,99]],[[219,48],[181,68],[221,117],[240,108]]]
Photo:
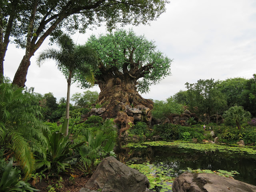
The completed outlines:
[[[145,192],[148,186],[148,178],[138,170],[114,157],[107,157],[100,162],[80,192],[93,192],[90,188],[101,189],[102,192]]]

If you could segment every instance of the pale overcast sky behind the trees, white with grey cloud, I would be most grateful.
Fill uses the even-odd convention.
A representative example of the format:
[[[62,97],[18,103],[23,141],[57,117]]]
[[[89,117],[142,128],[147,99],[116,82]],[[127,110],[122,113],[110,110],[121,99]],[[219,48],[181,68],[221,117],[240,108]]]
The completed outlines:
[[[256,0],[171,0],[167,10],[150,26],[127,26],[138,35],[154,40],[158,50],[174,59],[172,75],[151,86],[144,98],[165,100],[185,83],[199,79],[225,80],[227,78],[252,78],[256,73]],[[84,44],[91,34],[106,33],[105,27],[88,30],[73,36],[74,42]],[[40,50],[48,47],[44,42]],[[24,56],[24,50],[8,46],[4,61],[4,75],[11,80]],[[42,67],[31,58],[26,86],[35,92],[52,92],[59,100],[66,97],[67,82],[54,62]],[[100,92],[98,86],[93,89]],[[71,95],[83,92],[71,86]]]

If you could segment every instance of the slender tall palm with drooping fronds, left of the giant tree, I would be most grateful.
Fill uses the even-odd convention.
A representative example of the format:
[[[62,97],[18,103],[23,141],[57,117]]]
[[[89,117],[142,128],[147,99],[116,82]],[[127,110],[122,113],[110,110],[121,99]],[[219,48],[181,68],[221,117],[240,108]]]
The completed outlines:
[[[67,34],[63,34],[57,39],[59,50],[48,48],[39,53],[36,63],[41,66],[48,59],[56,61],[58,69],[61,70],[67,78],[67,104],[66,117],[67,126],[64,135],[68,135],[68,118],[70,104],[70,85],[74,75],[83,76],[88,82],[94,84],[94,71],[98,68],[98,54],[92,48],[86,45],[76,45]]]

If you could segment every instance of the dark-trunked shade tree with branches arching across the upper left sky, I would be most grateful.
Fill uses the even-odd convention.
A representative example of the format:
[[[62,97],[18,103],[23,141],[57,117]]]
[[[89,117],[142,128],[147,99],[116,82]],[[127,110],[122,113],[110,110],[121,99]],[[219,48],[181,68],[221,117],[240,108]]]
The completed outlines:
[[[30,58],[52,35],[62,30],[84,33],[92,25],[106,22],[113,28],[122,24],[146,24],[165,11],[168,0],[2,0],[0,2],[0,72],[10,37],[26,49],[13,83],[24,86]],[[54,39],[53,38],[53,39]]]

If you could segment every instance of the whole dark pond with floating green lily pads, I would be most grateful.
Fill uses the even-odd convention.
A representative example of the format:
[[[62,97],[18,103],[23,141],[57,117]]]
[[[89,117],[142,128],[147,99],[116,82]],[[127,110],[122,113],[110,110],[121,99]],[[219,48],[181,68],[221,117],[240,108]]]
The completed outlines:
[[[164,182],[165,186],[171,186],[172,181],[169,177],[175,178],[191,169],[212,170],[222,173],[222,170],[225,170],[231,172],[230,174],[233,173],[232,177],[236,180],[256,185],[255,148],[250,148],[250,150],[245,148],[244,151],[248,151],[250,153],[248,154],[243,152],[241,148],[232,146],[219,146],[220,150],[216,150],[215,146],[217,145],[215,144],[202,145],[182,142],[180,145],[177,143],[170,146],[157,145],[151,144],[149,146],[147,143],[136,148],[123,146],[116,149],[116,154],[120,160],[126,162],[128,166],[138,168],[142,173],[146,173],[148,178],[149,176],[152,177],[153,174],[155,177],[158,174],[160,178],[163,178],[161,182],[154,179],[150,181],[150,183],[158,184],[156,185],[158,188],[156,186],[153,188],[156,191],[171,191],[170,188],[164,188],[162,183]],[[149,169],[146,170],[147,168]],[[158,172],[154,169],[158,169]],[[239,174],[236,174],[237,172]],[[152,185],[150,184],[150,186]]]

